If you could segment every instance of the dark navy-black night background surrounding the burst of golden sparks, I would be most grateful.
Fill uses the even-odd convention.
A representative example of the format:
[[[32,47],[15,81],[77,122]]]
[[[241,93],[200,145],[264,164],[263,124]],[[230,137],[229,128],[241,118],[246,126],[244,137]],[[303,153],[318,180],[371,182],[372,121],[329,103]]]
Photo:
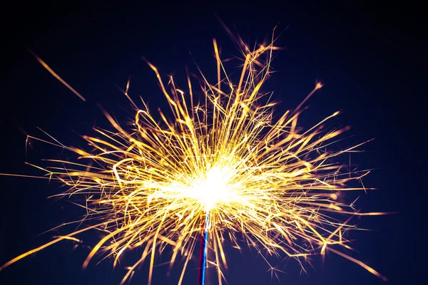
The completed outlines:
[[[153,111],[167,107],[153,71],[141,56],[161,74],[174,74],[178,80],[183,80],[186,64],[196,71],[193,59],[208,77],[214,76],[212,38],[222,46],[223,58],[239,55],[216,16],[233,30],[236,27],[250,43],[269,38],[278,25],[277,31],[283,33],[277,45],[285,49],[277,53],[273,61],[277,72],[265,86],[282,102],[277,113],[294,108],[315,82],[321,81],[325,87],[307,103],[310,108],[300,125],[309,127],[342,110],[342,115],[330,122],[332,128],[351,125],[350,142],[376,138],[365,145],[367,152],[351,157],[359,169],[377,168],[364,182],[379,190],[362,195],[357,206],[364,212],[399,214],[353,220],[360,227],[374,229],[352,232],[351,238],[357,239],[353,246],[359,251],[353,256],[387,276],[388,284],[424,284],[427,172],[422,165],[426,152],[422,147],[427,128],[422,102],[427,73],[422,8],[407,1],[407,6],[309,2],[296,6],[271,1],[69,3],[21,2],[3,7],[10,19],[4,16],[1,20],[6,52],[1,64],[0,173],[41,175],[24,162],[40,164],[41,158],[68,157],[68,153],[41,143],[34,143],[26,155],[26,133],[42,135],[36,127],[66,145],[84,146],[79,134],[93,134],[93,125],[108,126],[96,103],[123,122],[131,118],[132,110],[117,87],[125,88],[128,76],[133,98],[141,95]],[[81,101],[51,76],[27,48],[88,101]],[[342,157],[345,163],[348,158]],[[66,200],[47,199],[61,191],[60,186],[45,180],[0,176],[1,264],[48,242],[55,234],[67,234],[62,230],[38,236],[83,214]],[[91,245],[98,237],[86,234],[81,239],[84,245]],[[13,264],[0,272],[0,284],[119,284],[123,269],[112,270],[112,261],[106,260],[98,265],[93,262],[83,271],[81,264],[90,249],[83,245],[73,249],[73,245],[61,242]],[[137,254],[129,254],[129,262]],[[271,280],[263,259],[254,251],[229,249],[227,254],[230,285],[384,284],[332,253],[327,253],[324,264],[315,257],[314,268],[308,265],[307,274],[300,274],[295,261],[288,262],[280,281]],[[157,262],[167,258],[159,257]],[[189,265],[185,285],[195,284],[196,267],[196,261]],[[175,266],[172,276],[166,278],[166,268],[157,267],[153,285],[175,284],[179,269]],[[143,266],[131,284],[146,284],[147,271]]]

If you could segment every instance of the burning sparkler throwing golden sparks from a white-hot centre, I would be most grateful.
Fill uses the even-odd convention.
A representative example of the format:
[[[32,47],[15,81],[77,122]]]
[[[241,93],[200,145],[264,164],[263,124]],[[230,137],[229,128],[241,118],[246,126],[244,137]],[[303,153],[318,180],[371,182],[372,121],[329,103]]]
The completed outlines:
[[[368,171],[350,172],[334,161],[362,144],[329,150],[347,130],[324,130],[324,123],[338,113],[308,130],[297,128],[304,103],[321,83],[294,111],[275,118],[271,93],[261,89],[271,73],[272,51],[279,48],[273,38],[254,49],[241,38],[235,39],[245,58],[237,83],[226,72],[215,40],[216,83],[210,83],[202,72],[196,80],[187,73],[187,91],[183,91],[173,77],[165,84],[148,62],[173,120],[162,111],[161,119],[156,120],[143,99],[143,108],[138,109],[128,95],[128,81],[125,95],[136,108],[131,130],[104,112],[114,130],[94,128],[97,136],[84,135],[91,150],[63,145],[51,136],[46,140],[29,137],[78,156],[78,162],[49,160],[50,167],[39,168],[46,172],[46,179],[68,187],[58,197],[85,197],[82,207],[86,217],[76,223],[88,226],[21,254],[0,270],[63,239],[78,240],[78,234],[98,229],[105,235],[88,254],[83,268],[96,255],[112,257],[116,266],[126,252],[141,249],[141,258],[128,267],[121,284],[131,279],[145,260],[150,262],[151,284],[156,256],[165,247],[173,252],[170,268],[183,259],[178,280],[182,284],[201,233],[200,284],[204,283],[206,266],[215,267],[219,284],[225,280],[225,242],[238,249],[253,247],[262,256],[285,254],[299,262],[330,250],[386,280],[340,251],[351,249],[344,233],[355,226],[348,224],[349,219],[340,222],[336,214],[382,214],[360,213],[352,204],[337,199],[342,192],[367,190],[348,185]],[[195,82],[203,98],[200,103],[194,101]],[[211,255],[207,257],[208,252]]]

